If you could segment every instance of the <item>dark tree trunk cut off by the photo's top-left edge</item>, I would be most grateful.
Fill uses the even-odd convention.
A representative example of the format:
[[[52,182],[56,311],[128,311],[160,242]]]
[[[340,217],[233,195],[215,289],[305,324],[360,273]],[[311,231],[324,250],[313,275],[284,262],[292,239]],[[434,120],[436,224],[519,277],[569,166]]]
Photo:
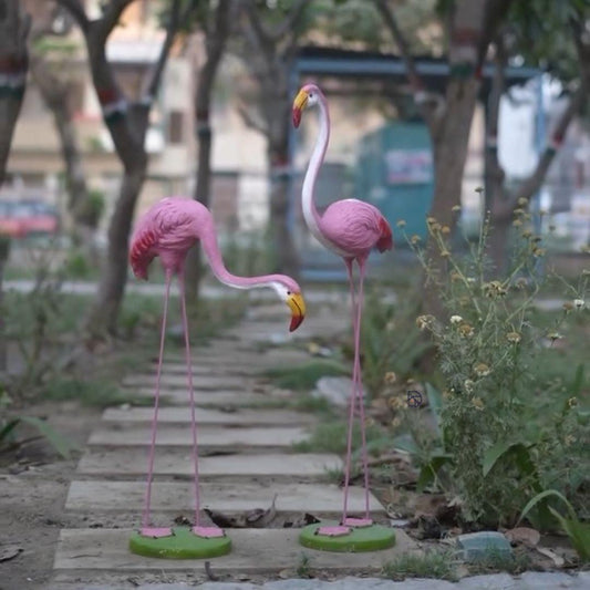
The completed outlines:
[[[24,95],[30,23],[19,0],[0,0],[0,186]]]

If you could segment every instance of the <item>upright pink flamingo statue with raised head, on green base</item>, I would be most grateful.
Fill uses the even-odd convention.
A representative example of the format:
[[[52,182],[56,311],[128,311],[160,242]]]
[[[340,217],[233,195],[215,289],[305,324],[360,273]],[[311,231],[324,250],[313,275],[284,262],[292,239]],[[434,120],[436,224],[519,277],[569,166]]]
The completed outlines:
[[[350,283],[352,303],[352,328],[354,337],[354,361],[352,370],[352,393],[350,400],[346,458],[344,465],[344,493],[342,519],[338,526],[310,525],[301,535],[301,542],[308,547],[338,551],[370,551],[391,547],[395,536],[391,529],[373,524],[369,507],[369,466],[366,457],[365,416],[363,385],[360,362],[361,314],[363,308],[363,282],[366,260],[372,250],[380,252],[393,248],[390,224],[379,209],[358,199],[343,199],[332,203],[320,215],[313,201],[313,189],[320,166],[323,163],[330,139],[330,114],[328,102],[315,84],[306,84],[293,102],[293,125],[299,127],[301,113],[309,106],[319,106],[320,131],[315,147],[303,180],[301,193],[306,224],[311,234],[332,252],[344,259]],[[359,287],[355,289],[353,265],[359,266]],[[364,476],[365,509],[363,518],[350,518],[348,515],[349,487],[352,455],[352,431],[354,407],[358,405],[361,423],[362,462]]]

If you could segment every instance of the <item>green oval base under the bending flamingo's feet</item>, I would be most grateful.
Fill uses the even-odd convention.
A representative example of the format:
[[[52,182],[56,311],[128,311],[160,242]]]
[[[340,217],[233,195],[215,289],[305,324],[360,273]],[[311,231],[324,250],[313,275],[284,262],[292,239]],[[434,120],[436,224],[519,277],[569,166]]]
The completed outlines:
[[[174,536],[159,539],[134,532],[130,538],[130,550],[138,556],[161,559],[206,559],[231,551],[229,537],[204,539],[194,535],[189,528],[173,528],[173,532]]]

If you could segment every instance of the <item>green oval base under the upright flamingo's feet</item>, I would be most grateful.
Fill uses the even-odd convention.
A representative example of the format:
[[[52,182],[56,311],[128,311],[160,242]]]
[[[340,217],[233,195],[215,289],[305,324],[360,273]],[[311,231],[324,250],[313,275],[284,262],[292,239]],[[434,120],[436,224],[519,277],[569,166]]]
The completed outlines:
[[[361,553],[364,551],[381,551],[395,545],[393,529],[381,525],[353,528],[349,535],[342,537],[325,537],[315,535],[320,527],[335,525],[337,522],[317,522],[301,529],[299,542],[303,547],[318,551],[337,551],[342,553]]]

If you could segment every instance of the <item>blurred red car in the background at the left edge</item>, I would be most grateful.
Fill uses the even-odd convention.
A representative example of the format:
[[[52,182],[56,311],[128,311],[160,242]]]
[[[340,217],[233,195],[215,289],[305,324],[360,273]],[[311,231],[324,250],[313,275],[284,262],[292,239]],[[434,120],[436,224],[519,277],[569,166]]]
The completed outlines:
[[[58,210],[39,200],[0,200],[0,234],[13,238],[54,236],[60,229]]]

